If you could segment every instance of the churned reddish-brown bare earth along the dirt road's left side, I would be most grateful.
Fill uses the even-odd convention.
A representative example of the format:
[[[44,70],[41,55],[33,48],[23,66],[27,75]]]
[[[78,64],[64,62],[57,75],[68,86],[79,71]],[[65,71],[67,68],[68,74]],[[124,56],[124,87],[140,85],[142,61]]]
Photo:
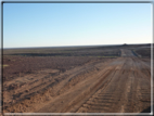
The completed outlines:
[[[70,60],[70,59],[69,59]],[[63,65],[61,68],[44,68],[3,81],[3,107],[4,112],[31,112],[40,104],[49,103],[55,95],[60,95],[75,78],[95,69],[94,64],[110,61],[106,59],[77,59],[75,64]],[[76,60],[76,61],[77,61]],[[84,61],[85,60],[85,61]],[[62,65],[62,61],[59,60]],[[80,62],[80,63],[79,63]],[[84,62],[86,63],[85,65]],[[76,66],[76,67],[75,67]],[[24,67],[23,67],[24,68]],[[80,78],[78,81],[81,81]],[[70,82],[69,82],[70,81]],[[61,90],[61,91],[60,91]],[[30,111],[29,111],[30,109]]]

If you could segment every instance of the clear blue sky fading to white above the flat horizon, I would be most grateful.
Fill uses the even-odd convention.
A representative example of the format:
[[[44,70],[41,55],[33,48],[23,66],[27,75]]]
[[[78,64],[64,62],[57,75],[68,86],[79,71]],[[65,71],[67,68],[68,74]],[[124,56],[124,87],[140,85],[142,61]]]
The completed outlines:
[[[3,3],[4,48],[151,42],[151,3]]]

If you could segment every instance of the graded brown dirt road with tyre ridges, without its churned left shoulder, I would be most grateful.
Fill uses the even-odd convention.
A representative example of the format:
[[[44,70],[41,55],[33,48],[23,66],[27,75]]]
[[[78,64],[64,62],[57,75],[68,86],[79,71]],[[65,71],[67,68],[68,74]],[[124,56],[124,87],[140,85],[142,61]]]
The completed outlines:
[[[121,50],[121,56],[126,57],[98,66],[97,72],[38,112],[142,112],[151,103],[150,66],[129,50]]]

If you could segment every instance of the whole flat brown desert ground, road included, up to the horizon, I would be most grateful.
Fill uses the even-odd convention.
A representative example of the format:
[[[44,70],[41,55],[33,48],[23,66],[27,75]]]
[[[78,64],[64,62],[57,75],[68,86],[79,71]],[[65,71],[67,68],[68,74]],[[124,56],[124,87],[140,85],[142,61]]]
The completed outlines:
[[[3,113],[150,113],[151,44],[3,49]]]

